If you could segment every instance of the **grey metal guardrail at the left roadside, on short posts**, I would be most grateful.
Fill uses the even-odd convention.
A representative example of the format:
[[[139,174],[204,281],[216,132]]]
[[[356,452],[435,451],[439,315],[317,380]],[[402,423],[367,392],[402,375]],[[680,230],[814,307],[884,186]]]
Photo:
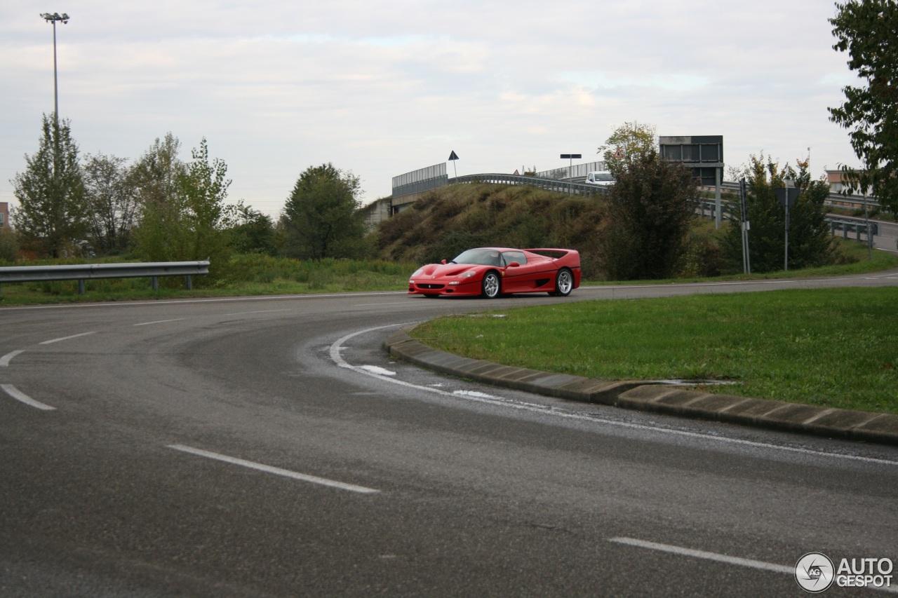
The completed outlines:
[[[99,278],[152,278],[153,290],[159,277],[184,277],[184,287],[193,288],[194,276],[209,273],[208,261],[154,261],[124,264],[75,264],[70,266],[11,266],[0,268],[3,283],[77,280],[78,295],[84,295],[84,281]]]

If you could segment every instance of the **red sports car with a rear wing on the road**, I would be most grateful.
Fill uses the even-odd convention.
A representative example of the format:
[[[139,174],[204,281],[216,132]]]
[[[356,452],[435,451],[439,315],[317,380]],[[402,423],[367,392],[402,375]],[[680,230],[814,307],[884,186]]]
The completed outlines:
[[[570,295],[580,286],[580,254],[574,250],[515,250],[480,247],[450,262],[418,268],[409,295],[480,295],[493,299],[512,293]]]

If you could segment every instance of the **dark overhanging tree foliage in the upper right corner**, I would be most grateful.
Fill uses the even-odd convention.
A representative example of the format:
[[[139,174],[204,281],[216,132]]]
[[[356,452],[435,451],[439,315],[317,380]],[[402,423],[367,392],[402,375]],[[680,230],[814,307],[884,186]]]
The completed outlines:
[[[898,212],[898,3],[849,0],[836,3],[830,19],[838,40],[833,49],[849,53],[848,66],[866,87],[842,88],[846,101],[830,108],[830,120],[849,129],[862,170],[845,166],[847,190],[870,190],[879,203]]]

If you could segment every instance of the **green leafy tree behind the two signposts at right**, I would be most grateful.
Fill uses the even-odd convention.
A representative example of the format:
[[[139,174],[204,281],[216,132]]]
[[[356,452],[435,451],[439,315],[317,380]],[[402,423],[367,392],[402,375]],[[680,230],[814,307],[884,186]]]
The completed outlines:
[[[801,189],[794,206],[789,208],[788,265],[789,268],[813,268],[832,263],[835,246],[826,222],[825,201],[829,186],[823,180],[811,180],[808,161],[797,161],[797,171],[791,166],[780,168],[779,163],[752,155],[746,180],[749,232],[749,251],[753,272],[773,272],[783,268],[786,249],[786,210],[776,198],[774,189],[785,186],[791,177]],[[733,210],[738,213],[737,209]],[[726,267],[732,272],[742,271],[742,230],[738,222],[727,224],[723,231],[721,249]]]

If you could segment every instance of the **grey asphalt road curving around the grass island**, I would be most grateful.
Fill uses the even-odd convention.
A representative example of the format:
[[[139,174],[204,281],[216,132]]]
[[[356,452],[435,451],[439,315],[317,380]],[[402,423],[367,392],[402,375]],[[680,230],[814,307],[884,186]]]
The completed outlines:
[[[0,596],[803,595],[807,552],[898,557],[895,447],[483,387],[381,343],[505,306],[885,285],[0,309]]]

